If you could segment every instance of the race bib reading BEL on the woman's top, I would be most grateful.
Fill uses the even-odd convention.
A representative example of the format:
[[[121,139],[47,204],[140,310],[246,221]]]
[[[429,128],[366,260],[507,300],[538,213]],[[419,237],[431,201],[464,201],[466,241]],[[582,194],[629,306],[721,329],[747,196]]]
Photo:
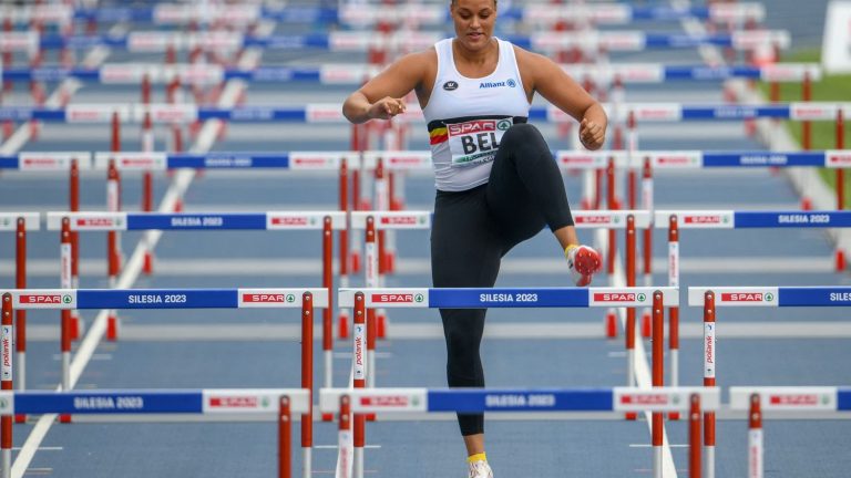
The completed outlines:
[[[447,124],[452,166],[463,167],[492,162],[496,157],[502,135],[512,124],[510,117]]]

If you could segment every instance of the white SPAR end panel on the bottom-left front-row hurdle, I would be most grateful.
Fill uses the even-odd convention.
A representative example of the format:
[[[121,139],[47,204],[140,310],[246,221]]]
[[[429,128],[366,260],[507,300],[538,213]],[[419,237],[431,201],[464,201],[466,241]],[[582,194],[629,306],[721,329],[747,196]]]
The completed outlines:
[[[307,391],[304,389],[204,389],[202,391],[204,414],[277,414],[280,398],[289,398],[290,414],[308,411]]]

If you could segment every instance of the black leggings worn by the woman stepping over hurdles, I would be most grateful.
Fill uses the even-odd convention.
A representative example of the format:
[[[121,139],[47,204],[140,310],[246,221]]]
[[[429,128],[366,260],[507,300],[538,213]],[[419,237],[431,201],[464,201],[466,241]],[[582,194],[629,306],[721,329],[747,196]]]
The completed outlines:
[[[437,288],[490,288],[511,248],[544,226],[573,225],[558,166],[543,136],[515,124],[502,137],[488,184],[460,193],[438,190],[431,230]],[[485,309],[441,309],[450,387],[483,387],[479,345]],[[484,432],[484,417],[459,415],[462,435]]]

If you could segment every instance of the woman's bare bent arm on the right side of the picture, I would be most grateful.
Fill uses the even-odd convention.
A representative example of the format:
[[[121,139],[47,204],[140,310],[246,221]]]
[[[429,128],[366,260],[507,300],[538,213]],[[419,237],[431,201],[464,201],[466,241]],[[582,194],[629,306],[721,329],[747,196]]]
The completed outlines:
[[[606,139],[608,121],[603,106],[552,60],[514,46],[523,86],[535,92],[580,122],[580,139],[588,149],[599,149]]]

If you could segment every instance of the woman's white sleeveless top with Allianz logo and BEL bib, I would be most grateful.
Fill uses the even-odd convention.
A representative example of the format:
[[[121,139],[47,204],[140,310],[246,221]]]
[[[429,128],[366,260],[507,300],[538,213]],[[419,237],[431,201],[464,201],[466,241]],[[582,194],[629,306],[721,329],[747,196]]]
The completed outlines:
[[[452,39],[434,44],[438,75],[423,114],[439,190],[462,191],[488,183],[503,133],[529,117],[530,104],[514,48],[510,42],[496,41],[496,69],[481,79],[458,72]]]

